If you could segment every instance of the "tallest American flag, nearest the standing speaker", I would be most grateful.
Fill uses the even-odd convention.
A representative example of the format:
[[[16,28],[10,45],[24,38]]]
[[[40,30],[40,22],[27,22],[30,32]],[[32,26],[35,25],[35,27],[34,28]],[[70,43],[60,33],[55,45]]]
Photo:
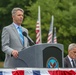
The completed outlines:
[[[38,7],[38,20],[36,24],[36,44],[40,44],[41,40],[41,19],[40,19],[40,6]]]

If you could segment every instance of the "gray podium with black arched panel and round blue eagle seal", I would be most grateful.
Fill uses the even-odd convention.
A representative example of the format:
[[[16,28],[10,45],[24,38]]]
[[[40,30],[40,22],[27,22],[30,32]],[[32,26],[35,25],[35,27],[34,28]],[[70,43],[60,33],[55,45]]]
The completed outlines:
[[[35,44],[20,51],[12,63],[15,67],[62,68],[63,50],[62,44]]]

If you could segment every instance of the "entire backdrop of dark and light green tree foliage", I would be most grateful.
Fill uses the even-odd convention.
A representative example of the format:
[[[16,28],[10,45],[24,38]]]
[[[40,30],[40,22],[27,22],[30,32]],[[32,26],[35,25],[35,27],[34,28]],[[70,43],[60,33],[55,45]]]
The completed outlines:
[[[47,42],[51,16],[54,15],[54,27],[57,29],[58,43],[64,45],[64,53],[70,43],[76,42],[76,1],[75,0],[0,0],[0,35],[4,26],[12,23],[11,10],[21,7],[25,11],[23,26],[29,30],[30,37],[36,41],[36,21],[38,6],[41,9],[42,43]],[[1,38],[1,37],[0,37]],[[1,44],[1,41],[0,41]],[[0,49],[1,50],[1,49]],[[3,60],[3,52],[0,60]]]

